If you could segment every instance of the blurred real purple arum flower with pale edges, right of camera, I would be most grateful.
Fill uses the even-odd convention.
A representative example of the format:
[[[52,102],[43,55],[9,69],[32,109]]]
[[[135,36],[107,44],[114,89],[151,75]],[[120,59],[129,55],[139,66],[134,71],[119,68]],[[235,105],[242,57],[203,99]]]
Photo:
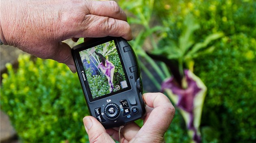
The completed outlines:
[[[195,76],[191,71],[184,70],[184,79],[182,81],[187,85],[186,88],[181,88],[173,77],[167,79],[162,84],[162,91],[174,101],[190,130],[189,135],[192,136],[196,143],[201,142],[200,121],[202,115],[202,107],[204,97],[206,95],[206,86]]]

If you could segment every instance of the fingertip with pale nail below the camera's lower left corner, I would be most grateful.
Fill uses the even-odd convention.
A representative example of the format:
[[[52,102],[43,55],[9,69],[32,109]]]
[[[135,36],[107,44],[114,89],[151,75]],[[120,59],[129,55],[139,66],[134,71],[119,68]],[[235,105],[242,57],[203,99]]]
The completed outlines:
[[[85,116],[83,122],[90,143],[115,143],[115,141],[107,134],[102,124],[100,124],[94,117]]]

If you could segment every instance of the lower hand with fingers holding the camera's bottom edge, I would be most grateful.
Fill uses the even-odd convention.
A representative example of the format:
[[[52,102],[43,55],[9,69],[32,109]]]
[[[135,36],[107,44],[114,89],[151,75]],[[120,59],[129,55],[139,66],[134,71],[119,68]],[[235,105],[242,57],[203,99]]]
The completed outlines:
[[[135,122],[128,123],[121,129],[120,143],[163,143],[175,109],[169,99],[162,93],[145,93],[146,116],[140,128]],[[92,116],[83,119],[85,130],[91,143],[114,143],[119,141],[119,128],[107,129]],[[111,138],[113,137],[113,139]]]

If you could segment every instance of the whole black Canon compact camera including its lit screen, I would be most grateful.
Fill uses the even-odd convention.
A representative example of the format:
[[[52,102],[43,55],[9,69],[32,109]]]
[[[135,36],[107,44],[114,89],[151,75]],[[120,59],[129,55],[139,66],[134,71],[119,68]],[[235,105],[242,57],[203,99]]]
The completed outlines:
[[[139,65],[126,40],[94,38],[74,46],[72,56],[91,116],[104,128],[144,116]]]

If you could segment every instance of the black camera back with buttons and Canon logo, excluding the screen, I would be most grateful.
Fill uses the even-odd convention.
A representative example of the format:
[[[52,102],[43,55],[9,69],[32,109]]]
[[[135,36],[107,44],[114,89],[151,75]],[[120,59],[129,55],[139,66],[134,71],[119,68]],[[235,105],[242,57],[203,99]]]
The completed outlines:
[[[83,74],[85,67],[81,65],[81,57],[78,53],[81,49],[111,40],[115,40],[115,46],[117,47],[129,88],[122,92],[109,94],[106,97],[92,99],[88,81],[85,80],[85,74]],[[83,43],[75,46],[72,49],[72,55],[91,116],[97,118],[105,128],[119,127],[143,117],[145,104],[142,97],[140,71],[132,47],[123,38],[113,37],[97,38],[91,41],[90,44]]]

